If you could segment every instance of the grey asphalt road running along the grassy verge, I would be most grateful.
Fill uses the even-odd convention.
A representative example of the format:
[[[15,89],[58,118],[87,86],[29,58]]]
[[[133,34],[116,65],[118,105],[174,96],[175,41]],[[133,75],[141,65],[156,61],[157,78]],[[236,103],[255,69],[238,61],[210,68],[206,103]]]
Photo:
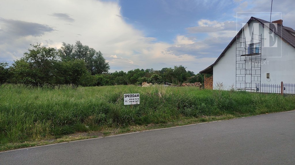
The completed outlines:
[[[0,164],[295,164],[295,111],[0,152]]]

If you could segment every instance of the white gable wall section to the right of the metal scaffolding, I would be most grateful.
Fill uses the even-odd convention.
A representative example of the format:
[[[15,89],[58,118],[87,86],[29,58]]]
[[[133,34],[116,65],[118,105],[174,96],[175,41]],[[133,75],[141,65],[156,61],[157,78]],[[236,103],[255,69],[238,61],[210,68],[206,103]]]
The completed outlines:
[[[260,31],[263,30],[269,31],[267,27],[263,29],[260,26]],[[262,40],[262,45],[270,47],[262,47],[261,83],[280,84],[281,81],[295,83],[295,48],[276,34],[269,36],[269,33],[262,33],[262,35],[262,38],[266,38]],[[266,79],[266,73],[270,74],[270,79]]]

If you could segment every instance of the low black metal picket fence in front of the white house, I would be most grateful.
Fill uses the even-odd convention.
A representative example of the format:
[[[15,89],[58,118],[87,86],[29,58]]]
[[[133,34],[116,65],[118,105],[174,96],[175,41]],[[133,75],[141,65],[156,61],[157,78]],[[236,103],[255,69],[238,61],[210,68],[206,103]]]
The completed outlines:
[[[279,93],[279,94],[295,94],[295,84],[283,83],[281,84],[256,84],[256,92],[261,93]]]

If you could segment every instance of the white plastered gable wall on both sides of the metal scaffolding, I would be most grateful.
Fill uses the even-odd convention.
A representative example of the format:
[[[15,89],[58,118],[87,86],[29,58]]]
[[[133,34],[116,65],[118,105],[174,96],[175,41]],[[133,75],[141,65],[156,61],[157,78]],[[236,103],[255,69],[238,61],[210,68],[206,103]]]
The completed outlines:
[[[295,48],[285,43],[276,34],[268,33],[265,26],[259,25],[259,32],[253,28],[251,21],[249,26],[244,27],[243,36],[249,36],[249,28],[254,29],[253,33],[262,34],[262,55],[261,55],[261,83],[280,84],[295,83]],[[252,30],[250,30],[251,33]],[[250,38],[246,39],[247,41]],[[276,44],[275,44],[276,43]],[[217,84],[222,83],[224,89],[235,88],[236,80],[236,42],[227,50],[220,60],[213,66],[213,89],[217,89]],[[265,60],[264,60],[265,59]],[[270,73],[270,79],[266,79],[266,73]]]

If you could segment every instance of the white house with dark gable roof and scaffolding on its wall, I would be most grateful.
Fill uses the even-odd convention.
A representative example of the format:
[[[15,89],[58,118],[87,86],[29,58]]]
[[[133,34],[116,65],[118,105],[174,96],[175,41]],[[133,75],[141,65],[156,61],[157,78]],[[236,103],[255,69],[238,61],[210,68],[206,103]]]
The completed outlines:
[[[217,60],[199,73],[213,74],[214,89],[220,83],[236,90],[295,83],[295,31],[283,26],[283,20],[251,17]]]

